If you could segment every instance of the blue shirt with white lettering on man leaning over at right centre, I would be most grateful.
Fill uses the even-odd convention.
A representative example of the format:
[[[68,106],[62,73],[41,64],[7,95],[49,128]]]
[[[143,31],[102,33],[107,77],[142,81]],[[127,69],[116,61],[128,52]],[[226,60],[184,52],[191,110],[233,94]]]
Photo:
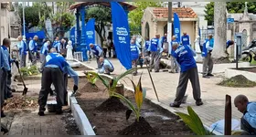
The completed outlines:
[[[176,61],[180,65],[180,71],[186,72],[190,68],[197,68],[197,63],[194,58],[196,53],[187,45],[180,45],[172,52],[172,56],[176,58]]]

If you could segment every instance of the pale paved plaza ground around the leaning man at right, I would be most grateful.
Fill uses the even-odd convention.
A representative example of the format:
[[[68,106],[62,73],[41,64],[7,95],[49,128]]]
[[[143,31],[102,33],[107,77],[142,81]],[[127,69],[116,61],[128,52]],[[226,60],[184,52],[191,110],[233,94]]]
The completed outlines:
[[[115,67],[115,71],[113,74],[121,74],[122,72],[125,71],[125,68],[122,67],[121,63],[117,59],[110,59],[110,60],[112,61],[112,64]],[[92,60],[91,62],[84,62],[84,64],[89,65],[93,68],[96,68],[95,60]],[[198,67],[198,71],[201,72],[202,64],[197,64],[197,67]],[[193,109],[199,115],[199,117],[202,119],[203,123],[206,124],[207,126],[210,126],[212,123],[224,119],[226,94],[229,94],[231,96],[232,101],[239,94],[244,94],[247,97],[249,97],[249,100],[255,101],[256,94],[254,93],[254,91],[256,90],[256,87],[227,88],[227,87],[221,87],[216,85],[222,80],[225,69],[233,68],[233,67],[235,67],[235,64],[214,65],[213,73],[217,75],[216,77],[211,79],[202,79],[201,74],[199,74],[200,86],[202,91],[201,94],[202,94],[202,99],[204,101],[204,105],[199,107],[196,106],[195,100],[193,100],[192,87],[191,87],[191,84],[189,83],[187,85],[187,94],[188,94],[187,103],[182,104],[181,105],[182,108],[177,108],[174,110],[187,113],[187,106],[188,105],[192,106]],[[142,69],[139,71],[140,72],[143,71],[142,85],[144,88],[147,89],[147,95],[146,95],[147,98],[156,100],[155,91],[153,89],[147,70]],[[155,88],[158,93],[159,100],[161,102],[160,105],[172,110],[172,108],[169,107],[169,103],[175,99],[179,74],[171,74],[168,72],[159,72],[159,73],[152,72],[151,74],[155,82]],[[136,82],[139,79],[139,76],[133,77],[130,75],[129,77],[134,79]],[[132,88],[131,81],[129,81],[128,79],[124,79],[124,80],[126,81],[128,86]],[[126,85],[125,83],[123,84]],[[242,114],[239,111],[237,111],[235,106],[232,104],[232,118],[239,120],[241,115]]]

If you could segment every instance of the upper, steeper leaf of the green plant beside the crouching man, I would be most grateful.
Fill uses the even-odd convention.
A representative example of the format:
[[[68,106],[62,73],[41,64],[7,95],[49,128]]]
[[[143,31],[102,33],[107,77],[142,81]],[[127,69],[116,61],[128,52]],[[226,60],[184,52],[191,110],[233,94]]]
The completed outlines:
[[[198,117],[197,113],[190,107],[187,107],[188,114],[190,115],[192,121],[197,125],[197,130],[200,132],[200,135],[205,135],[206,134],[206,129],[203,125],[203,122],[201,119]]]

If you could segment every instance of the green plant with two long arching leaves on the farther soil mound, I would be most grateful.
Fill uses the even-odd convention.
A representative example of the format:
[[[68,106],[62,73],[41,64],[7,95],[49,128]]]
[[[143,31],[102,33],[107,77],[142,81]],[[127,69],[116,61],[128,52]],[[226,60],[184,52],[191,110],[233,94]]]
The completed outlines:
[[[117,77],[113,77],[110,81],[103,79],[101,77],[101,75],[99,75],[96,72],[87,72],[88,74],[91,74],[92,76],[96,77],[97,79],[100,79],[102,84],[107,88],[110,97],[112,97],[112,93],[116,92],[116,86],[118,84],[118,81],[120,79],[123,79],[124,77],[126,77],[127,75],[133,73],[133,71],[135,70],[135,68],[131,68],[128,69],[127,71],[123,72],[121,75],[117,76]]]

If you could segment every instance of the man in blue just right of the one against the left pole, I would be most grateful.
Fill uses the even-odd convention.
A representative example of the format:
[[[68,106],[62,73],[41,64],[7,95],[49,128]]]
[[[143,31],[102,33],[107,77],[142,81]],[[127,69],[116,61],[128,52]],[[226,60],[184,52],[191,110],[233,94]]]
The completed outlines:
[[[32,40],[29,41],[29,55],[32,62],[32,65],[37,64],[37,40],[38,37],[35,36]]]

